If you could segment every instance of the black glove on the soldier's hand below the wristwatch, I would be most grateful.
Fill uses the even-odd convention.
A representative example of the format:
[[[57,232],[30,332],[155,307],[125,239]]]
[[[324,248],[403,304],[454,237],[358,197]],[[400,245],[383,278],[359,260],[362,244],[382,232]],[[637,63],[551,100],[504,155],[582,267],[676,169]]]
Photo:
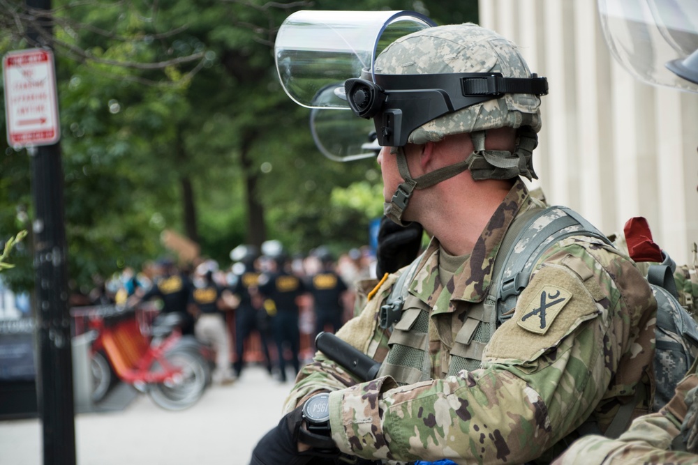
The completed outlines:
[[[269,430],[260,439],[252,451],[250,465],[305,465],[317,457],[332,459],[339,456],[339,449],[336,448],[332,439],[306,430],[301,431],[302,410],[301,405],[283,416],[279,425]],[[301,442],[312,445],[314,448],[306,452],[298,452],[299,435],[302,438]]]

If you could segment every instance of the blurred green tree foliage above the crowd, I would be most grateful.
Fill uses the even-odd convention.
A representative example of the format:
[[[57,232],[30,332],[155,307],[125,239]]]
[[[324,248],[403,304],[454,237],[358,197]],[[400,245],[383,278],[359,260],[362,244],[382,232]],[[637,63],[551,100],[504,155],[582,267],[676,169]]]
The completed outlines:
[[[2,54],[33,46],[17,27],[23,5],[0,0]],[[441,23],[477,15],[475,0],[448,9],[386,0],[52,6],[68,273],[82,287],[166,253],[165,229],[224,265],[239,243],[268,238],[293,252],[368,243],[383,204],[378,166],[318,153],[309,110],[276,76],[274,34],[299,9],[410,9]],[[0,137],[0,231],[31,229],[31,160]],[[31,250],[26,260],[19,252],[5,274],[30,287]]]

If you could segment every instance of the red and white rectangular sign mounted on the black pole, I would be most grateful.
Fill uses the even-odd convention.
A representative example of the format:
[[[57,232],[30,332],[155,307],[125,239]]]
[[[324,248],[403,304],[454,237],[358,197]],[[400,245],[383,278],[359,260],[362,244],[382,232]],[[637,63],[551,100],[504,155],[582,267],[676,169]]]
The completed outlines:
[[[53,53],[46,49],[3,57],[7,142],[13,147],[51,145],[61,137]]]

